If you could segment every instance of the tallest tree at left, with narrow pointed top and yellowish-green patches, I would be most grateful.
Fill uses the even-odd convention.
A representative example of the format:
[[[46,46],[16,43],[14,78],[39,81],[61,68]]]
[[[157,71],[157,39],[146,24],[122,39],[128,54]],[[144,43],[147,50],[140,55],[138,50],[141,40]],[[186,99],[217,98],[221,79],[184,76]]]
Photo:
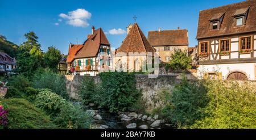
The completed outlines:
[[[35,32],[28,32],[24,35],[27,41],[24,41],[18,49],[17,71],[26,76],[31,76],[36,69],[43,64],[43,52],[38,43],[38,36]]]

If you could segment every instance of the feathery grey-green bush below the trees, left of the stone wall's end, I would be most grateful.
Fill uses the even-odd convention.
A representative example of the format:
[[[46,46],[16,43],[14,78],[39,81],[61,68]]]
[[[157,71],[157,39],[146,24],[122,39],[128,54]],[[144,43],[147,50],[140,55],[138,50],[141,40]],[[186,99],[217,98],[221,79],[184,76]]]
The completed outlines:
[[[50,69],[39,69],[36,71],[34,78],[32,78],[32,86],[34,88],[48,88],[68,99],[64,76],[53,73]]]

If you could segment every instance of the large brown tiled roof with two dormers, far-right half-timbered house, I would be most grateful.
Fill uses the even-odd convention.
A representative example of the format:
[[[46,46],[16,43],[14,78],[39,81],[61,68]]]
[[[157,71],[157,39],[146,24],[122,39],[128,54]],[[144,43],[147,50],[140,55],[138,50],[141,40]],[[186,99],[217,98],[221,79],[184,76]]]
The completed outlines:
[[[234,16],[244,13],[249,8],[245,26],[236,27]],[[225,13],[220,29],[211,30],[209,20],[213,15]],[[197,39],[206,37],[231,35],[241,32],[256,31],[256,0],[247,0],[231,5],[216,7],[213,9],[203,10],[199,12],[199,23],[197,28]]]

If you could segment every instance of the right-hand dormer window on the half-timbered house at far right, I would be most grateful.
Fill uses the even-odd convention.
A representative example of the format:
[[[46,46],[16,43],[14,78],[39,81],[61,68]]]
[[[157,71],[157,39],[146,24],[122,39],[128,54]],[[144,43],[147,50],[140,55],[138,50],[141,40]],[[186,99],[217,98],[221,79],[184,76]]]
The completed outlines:
[[[236,10],[236,12],[234,12],[233,17],[235,20],[234,22],[235,22],[236,27],[245,25],[249,8],[250,7],[245,8],[245,9],[238,9],[238,10]]]

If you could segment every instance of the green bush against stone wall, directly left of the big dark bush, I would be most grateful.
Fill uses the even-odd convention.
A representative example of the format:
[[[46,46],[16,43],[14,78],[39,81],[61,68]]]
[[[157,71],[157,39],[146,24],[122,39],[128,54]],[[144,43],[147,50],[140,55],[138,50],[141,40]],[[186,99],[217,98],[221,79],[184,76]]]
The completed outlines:
[[[77,94],[84,104],[93,103],[96,92],[96,84],[92,77],[82,77],[77,88]]]

